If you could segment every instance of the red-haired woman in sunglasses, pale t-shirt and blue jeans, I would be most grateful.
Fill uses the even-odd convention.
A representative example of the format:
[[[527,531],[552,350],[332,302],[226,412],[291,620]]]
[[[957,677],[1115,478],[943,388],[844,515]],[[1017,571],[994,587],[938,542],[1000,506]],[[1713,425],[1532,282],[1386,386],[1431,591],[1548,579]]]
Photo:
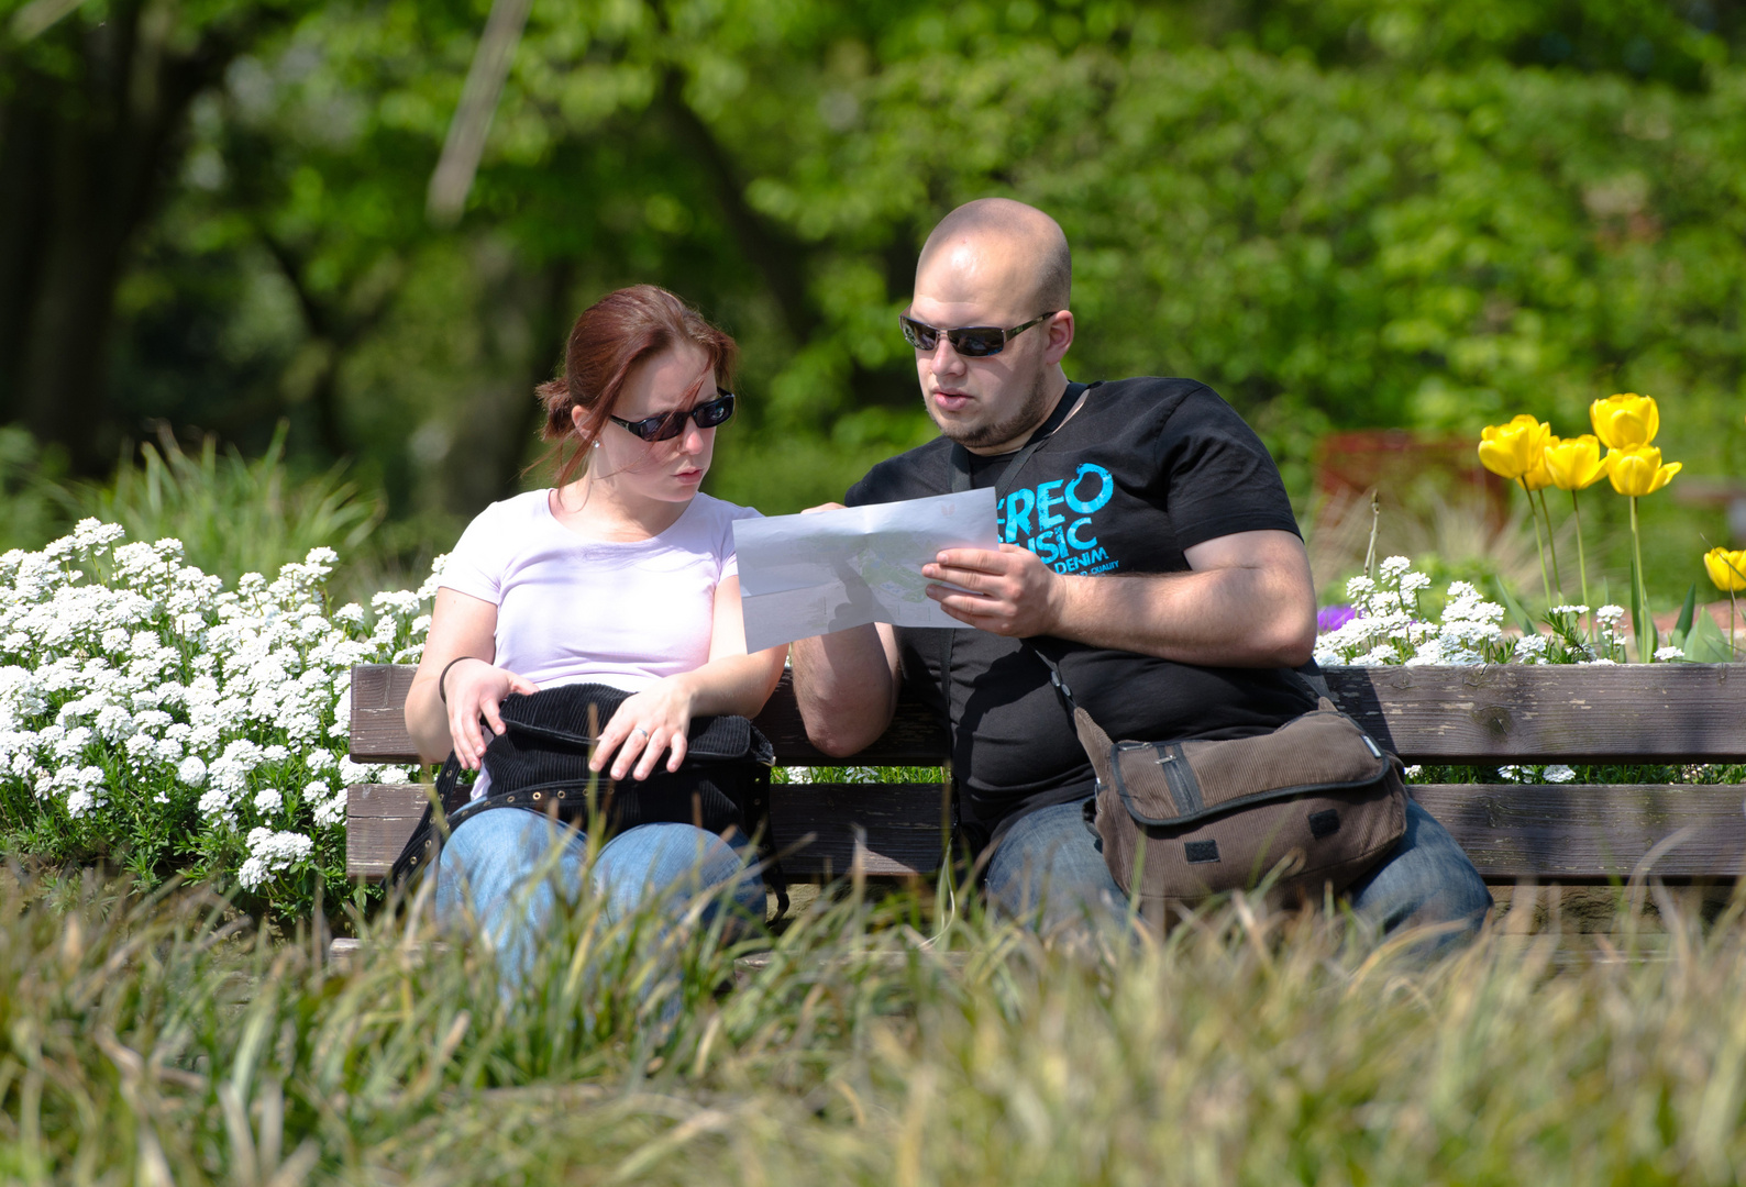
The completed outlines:
[[[564,377],[540,389],[557,484],[485,508],[449,555],[407,728],[428,761],[452,749],[477,770],[482,721],[503,730],[510,693],[601,683],[630,691],[601,731],[592,768],[644,779],[684,761],[693,716],[756,714],[784,648],[746,655],[733,520],[749,508],[698,492],[737,347],[651,285],[590,305],[569,335]],[[489,773],[475,784],[485,794]],[[634,784],[632,784],[634,786]],[[744,838],[740,838],[744,845]],[[553,847],[557,852],[553,852]],[[580,887],[585,840],[519,808],[480,812],[442,848],[440,922],[468,911],[519,978],[553,906],[553,880]],[[732,885],[763,918],[751,852],[691,824],[643,824],[599,850],[594,887],[622,915],[648,890]]]

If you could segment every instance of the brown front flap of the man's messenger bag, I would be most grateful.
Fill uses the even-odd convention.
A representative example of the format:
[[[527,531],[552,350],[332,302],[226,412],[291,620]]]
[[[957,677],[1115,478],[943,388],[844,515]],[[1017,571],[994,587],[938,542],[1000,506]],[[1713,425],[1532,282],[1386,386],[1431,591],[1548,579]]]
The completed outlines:
[[[1227,742],[1109,742],[1098,777],[1138,824],[1180,827],[1234,808],[1365,787],[1395,761],[1348,716],[1322,709]]]

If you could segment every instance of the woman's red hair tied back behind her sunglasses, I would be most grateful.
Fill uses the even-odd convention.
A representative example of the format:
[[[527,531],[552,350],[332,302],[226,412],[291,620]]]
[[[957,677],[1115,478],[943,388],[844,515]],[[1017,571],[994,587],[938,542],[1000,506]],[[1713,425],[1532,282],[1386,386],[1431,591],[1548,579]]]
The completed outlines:
[[[665,288],[632,285],[581,311],[569,330],[564,374],[538,389],[546,410],[540,436],[553,442],[548,459],[557,461],[557,485],[571,482],[587,464],[588,449],[606,428],[630,372],[684,344],[704,353],[718,388],[733,386],[740,347]],[[686,393],[686,405],[697,401],[702,381]],[[574,408],[585,408],[580,426]]]

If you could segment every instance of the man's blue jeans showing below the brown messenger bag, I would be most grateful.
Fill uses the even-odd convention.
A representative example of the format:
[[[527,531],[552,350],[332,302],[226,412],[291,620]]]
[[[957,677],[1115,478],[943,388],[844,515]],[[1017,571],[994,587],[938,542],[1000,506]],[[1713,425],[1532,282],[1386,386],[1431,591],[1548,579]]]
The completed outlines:
[[[1103,864],[1081,803],[1020,817],[988,862],[988,895],[1042,932],[1084,923],[1124,927],[1128,916],[1128,899]],[[1491,908],[1474,862],[1413,799],[1400,845],[1346,899],[1385,936],[1404,925],[1453,925],[1432,943],[1439,950],[1472,937]]]

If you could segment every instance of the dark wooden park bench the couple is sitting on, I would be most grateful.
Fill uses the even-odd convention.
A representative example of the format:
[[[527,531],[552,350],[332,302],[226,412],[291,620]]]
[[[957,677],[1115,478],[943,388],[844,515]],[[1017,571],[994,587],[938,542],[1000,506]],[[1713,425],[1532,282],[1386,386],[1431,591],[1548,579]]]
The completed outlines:
[[[417,763],[405,728],[410,667],[353,669],[351,756]],[[1746,763],[1746,663],[1627,667],[1329,669],[1341,709],[1407,765]],[[758,716],[784,766],[939,766],[946,738],[920,705],[852,759],[807,742],[787,676]],[[1413,796],[1489,883],[1730,880],[1746,862],[1743,787],[1732,784],[1414,784]],[[382,878],[424,810],[419,784],[349,789],[346,868]],[[772,787],[772,827],[794,880],[920,875],[945,857],[938,782]],[[803,838],[812,838],[801,845]]]

